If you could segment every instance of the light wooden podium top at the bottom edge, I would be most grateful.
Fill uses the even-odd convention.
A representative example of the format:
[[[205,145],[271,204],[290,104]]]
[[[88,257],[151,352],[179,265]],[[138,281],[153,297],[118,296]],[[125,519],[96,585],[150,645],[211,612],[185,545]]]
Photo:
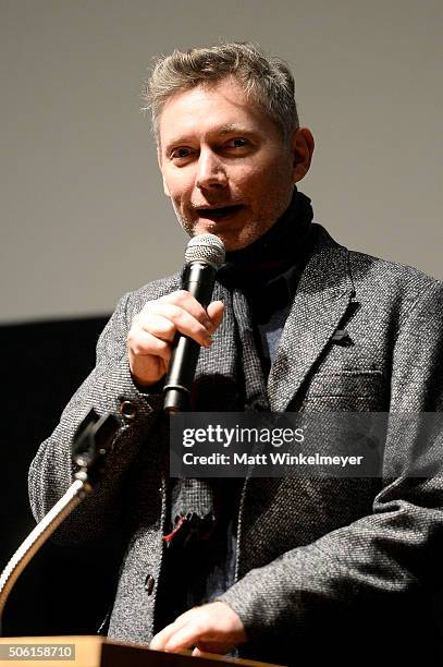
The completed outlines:
[[[46,653],[50,651],[52,657],[45,657],[45,647]],[[65,657],[62,659],[57,657],[63,654]],[[205,653],[202,657],[193,657],[190,651],[180,654],[163,653],[151,651],[147,646],[108,641],[103,636],[0,638],[0,665],[9,667],[14,664],[34,667],[216,667],[216,663],[245,667],[281,667],[211,653]]]

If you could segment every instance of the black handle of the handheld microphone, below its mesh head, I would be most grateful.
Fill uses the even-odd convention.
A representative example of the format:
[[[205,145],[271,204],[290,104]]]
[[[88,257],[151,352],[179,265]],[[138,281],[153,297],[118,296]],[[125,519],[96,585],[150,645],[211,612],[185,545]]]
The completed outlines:
[[[217,269],[210,264],[194,260],[186,265],[182,288],[204,306],[211,301]],[[197,367],[200,345],[197,341],[177,332],[173,341],[169,372],[164,381],[165,412],[185,412],[190,407],[190,386]]]

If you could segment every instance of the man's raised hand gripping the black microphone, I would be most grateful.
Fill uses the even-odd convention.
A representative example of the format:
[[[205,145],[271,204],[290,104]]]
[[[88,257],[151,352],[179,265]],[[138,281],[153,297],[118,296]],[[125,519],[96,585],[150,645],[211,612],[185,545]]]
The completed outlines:
[[[127,354],[138,387],[156,384],[169,368],[176,331],[209,348],[211,335],[223,317],[223,303],[213,301],[208,311],[185,290],[149,301],[133,319],[127,335]]]

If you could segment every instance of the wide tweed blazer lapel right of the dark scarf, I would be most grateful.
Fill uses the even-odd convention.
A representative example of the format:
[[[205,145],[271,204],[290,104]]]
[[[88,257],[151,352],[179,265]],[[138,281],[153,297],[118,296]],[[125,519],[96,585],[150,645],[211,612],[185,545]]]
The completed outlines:
[[[286,410],[339,327],[353,294],[347,248],[323,235],[300,277],[269,374],[273,412]]]

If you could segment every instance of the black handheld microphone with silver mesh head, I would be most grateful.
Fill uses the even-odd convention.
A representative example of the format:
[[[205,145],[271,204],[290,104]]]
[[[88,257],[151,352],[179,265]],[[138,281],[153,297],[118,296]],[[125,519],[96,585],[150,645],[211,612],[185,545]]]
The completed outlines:
[[[185,271],[182,289],[187,290],[204,306],[211,302],[213,283],[219,268],[224,264],[224,245],[214,234],[199,234],[190,239],[185,252]],[[200,345],[197,341],[177,332],[173,353],[164,381],[165,412],[189,410],[190,386],[197,367]]]

